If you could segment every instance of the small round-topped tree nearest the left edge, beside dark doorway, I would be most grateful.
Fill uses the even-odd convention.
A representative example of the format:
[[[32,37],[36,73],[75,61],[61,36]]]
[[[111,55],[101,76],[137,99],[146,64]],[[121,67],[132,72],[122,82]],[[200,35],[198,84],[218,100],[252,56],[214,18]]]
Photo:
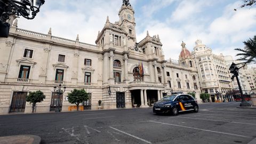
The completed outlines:
[[[43,92],[35,91],[35,92],[28,92],[28,96],[26,97],[26,101],[32,104],[32,113],[35,112],[35,107],[37,102],[41,102],[45,99],[45,95]]]

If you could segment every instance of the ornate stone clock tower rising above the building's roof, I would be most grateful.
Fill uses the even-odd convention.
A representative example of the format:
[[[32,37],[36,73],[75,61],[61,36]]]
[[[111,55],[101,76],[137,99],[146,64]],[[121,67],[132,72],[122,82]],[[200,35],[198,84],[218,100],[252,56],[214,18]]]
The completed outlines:
[[[129,0],[123,0],[123,5],[119,10],[119,26],[123,27],[127,33],[128,46],[134,46],[136,43],[136,33],[135,33],[135,18],[134,10],[129,2]]]

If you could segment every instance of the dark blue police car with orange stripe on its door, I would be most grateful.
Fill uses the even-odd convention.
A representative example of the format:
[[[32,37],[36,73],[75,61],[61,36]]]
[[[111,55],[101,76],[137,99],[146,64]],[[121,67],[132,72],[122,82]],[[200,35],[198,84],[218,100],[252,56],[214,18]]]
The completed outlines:
[[[153,112],[170,113],[178,115],[180,111],[198,112],[196,100],[189,94],[172,94],[166,95],[161,100],[154,103]]]

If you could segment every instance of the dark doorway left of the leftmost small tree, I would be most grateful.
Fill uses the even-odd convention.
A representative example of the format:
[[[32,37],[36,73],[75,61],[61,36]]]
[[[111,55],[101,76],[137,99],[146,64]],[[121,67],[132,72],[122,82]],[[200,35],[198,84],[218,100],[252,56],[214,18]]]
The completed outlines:
[[[13,92],[10,113],[25,111],[27,94],[28,92]]]

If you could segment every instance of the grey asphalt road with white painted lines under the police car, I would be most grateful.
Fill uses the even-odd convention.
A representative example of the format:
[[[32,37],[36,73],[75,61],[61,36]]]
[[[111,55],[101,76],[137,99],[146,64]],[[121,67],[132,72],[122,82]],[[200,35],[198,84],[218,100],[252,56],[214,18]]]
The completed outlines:
[[[0,116],[0,137],[34,134],[42,143],[248,143],[256,109],[205,103],[198,113],[155,115],[152,108]]]

